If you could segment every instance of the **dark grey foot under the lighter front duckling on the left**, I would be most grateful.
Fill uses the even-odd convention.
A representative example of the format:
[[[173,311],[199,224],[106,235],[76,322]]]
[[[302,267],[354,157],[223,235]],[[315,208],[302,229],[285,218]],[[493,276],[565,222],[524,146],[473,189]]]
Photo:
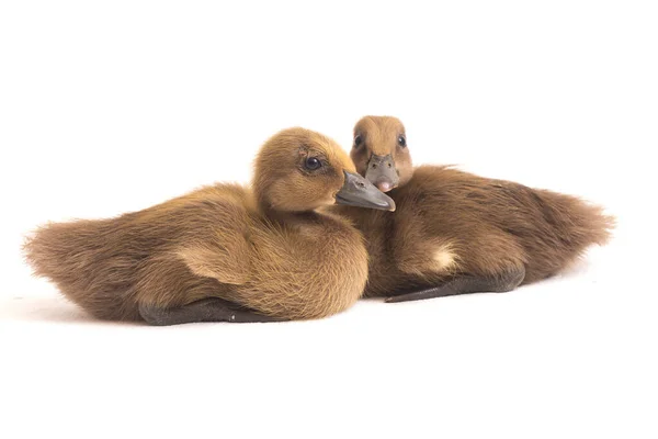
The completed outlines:
[[[139,314],[149,325],[169,326],[198,322],[262,323],[280,322],[217,297],[203,299],[177,308],[139,305]]]

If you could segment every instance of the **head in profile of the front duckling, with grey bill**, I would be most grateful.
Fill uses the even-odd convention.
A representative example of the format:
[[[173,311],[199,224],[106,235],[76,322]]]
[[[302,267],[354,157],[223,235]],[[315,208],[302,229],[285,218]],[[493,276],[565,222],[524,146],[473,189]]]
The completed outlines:
[[[363,178],[331,138],[300,127],[272,136],[254,161],[259,203],[274,211],[305,212],[330,204],[395,211],[395,202]]]

